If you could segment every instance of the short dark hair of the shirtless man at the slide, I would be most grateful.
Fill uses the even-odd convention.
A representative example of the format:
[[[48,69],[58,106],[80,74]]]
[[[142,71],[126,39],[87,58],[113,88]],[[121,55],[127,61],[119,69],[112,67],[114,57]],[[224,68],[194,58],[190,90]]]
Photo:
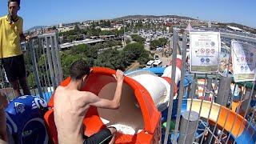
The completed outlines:
[[[70,77],[73,80],[78,80],[84,75],[90,74],[90,66],[87,65],[82,59],[73,62],[70,66]]]

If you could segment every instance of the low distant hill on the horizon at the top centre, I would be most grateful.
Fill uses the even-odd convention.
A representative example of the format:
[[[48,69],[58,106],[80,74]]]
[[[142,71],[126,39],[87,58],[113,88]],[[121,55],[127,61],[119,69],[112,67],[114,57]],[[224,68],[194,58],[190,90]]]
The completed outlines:
[[[121,18],[114,18],[114,20],[125,20],[125,19],[143,19],[143,18],[181,18],[181,19],[190,19],[195,20],[194,18],[190,17],[182,17],[178,15],[128,15]]]

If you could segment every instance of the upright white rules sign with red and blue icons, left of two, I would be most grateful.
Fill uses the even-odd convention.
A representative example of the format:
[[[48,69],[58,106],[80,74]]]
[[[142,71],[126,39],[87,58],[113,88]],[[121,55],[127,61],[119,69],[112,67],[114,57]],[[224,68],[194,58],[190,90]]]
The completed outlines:
[[[219,32],[190,31],[191,73],[218,73],[220,52],[221,36]]]

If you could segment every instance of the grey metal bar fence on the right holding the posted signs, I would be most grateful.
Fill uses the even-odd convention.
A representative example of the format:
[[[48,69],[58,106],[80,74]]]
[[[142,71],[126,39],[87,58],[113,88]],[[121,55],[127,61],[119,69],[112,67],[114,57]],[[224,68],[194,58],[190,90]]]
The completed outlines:
[[[182,42],[178,42],[178,34],[181,33]],[[187,33],[187,31],[174,29],[172,59],[176,59],[178,51],[181,50],[180,83],[184,83],[184,78],[188,75],[194,80],[186,88],[180,85],[177,99],[174,99],[175,83],[174,81],[171,83],[163,143],[254,143],[256,117],[255,108],[250,107],[250,102],[255,98],[255,80],[254,82],[235,83],[229,73],[224,75],[192,74],[187,71]],[[221,34],[222,36],[229,37],[228,34]],[[237,40],[246,40],[242,36],[231,36]],[[182,46],[178,46],[179,43],[182,43]],[[179,50],[178,47],[180,47]],[[230,62],[227,63],[226,68],[229,70]],[[171,79],[175,79],[176,62],[173,61],[172,65]],[[231,90],[233,88],[232,91],[230,86]],[[234,98],[238,86],[242,88],[241,97]],[[199,87],[202,89],[201,97],[198,96]],[[176,118],[172,118],[174,113],[177,115]],[[173,130],[170,130],[171,123],[175,123]]]

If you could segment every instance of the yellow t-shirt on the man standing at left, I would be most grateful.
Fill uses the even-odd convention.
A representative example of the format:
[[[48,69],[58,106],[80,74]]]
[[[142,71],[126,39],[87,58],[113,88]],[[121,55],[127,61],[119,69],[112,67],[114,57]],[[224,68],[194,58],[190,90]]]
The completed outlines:
[[[0,18],[0,58],[9,58],[22,54],[21,38],[23,19],[11,23],[8,16]]]

